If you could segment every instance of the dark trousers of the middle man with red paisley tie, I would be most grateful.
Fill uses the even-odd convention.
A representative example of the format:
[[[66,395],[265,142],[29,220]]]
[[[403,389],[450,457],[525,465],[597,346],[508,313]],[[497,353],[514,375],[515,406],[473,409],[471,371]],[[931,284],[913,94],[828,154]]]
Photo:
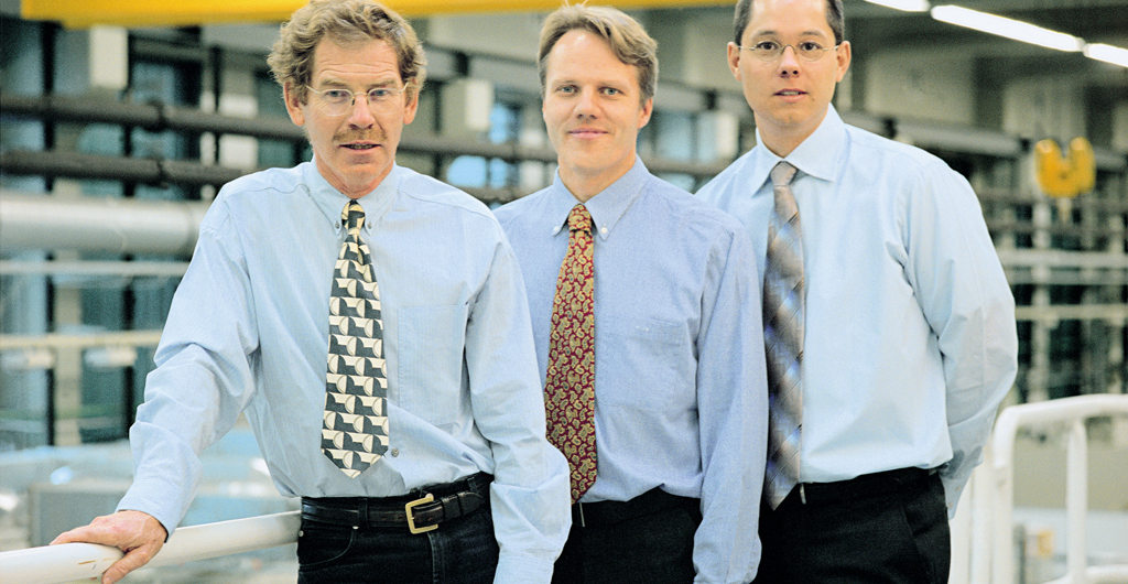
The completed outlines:
[[[654,489],[629,502],[573,505],[553,584],[690,584],[696,498]]]

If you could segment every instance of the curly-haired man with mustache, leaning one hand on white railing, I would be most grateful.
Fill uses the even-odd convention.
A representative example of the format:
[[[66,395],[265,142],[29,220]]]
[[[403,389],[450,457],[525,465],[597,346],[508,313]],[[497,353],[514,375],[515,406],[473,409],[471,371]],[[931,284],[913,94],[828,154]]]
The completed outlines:
[[[485,205],[395,163],[425,77],[414,32],[371,0],[315,1],[270,63],[314,161],[220,192],[131,428],[134,483],[118,513],[55,542],[126,551],[106,583],[148,561],[192,501],[200,452],[245,413],[279,490],[302,497],[299,582],[547,583],[567,468],[545,439],[517,259]],[[355,477],[323,453],[351,201],[379,285],[388,419],[386,452]]]

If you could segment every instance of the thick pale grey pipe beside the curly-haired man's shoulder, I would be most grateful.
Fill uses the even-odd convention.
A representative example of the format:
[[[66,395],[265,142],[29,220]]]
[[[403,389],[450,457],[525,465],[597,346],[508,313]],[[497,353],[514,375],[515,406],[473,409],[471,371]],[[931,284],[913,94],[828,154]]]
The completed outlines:
[[[0,193],[0,247],[192,255],[208,203]]]

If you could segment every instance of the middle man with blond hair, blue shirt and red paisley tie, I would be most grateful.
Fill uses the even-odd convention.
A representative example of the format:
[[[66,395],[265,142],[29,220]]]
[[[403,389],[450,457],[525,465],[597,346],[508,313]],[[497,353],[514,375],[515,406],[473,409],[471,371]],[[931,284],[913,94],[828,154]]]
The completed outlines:
[[[596,478],[573,505],[557,584],[746,583],[759,558],[767,395],[755,259],[738,221],[635,152],[654,48],[615,9],[546,19],[544,118],[559,170],[495,211],[525,274],[543,380],[567,218],[585,209],[593,223]]]

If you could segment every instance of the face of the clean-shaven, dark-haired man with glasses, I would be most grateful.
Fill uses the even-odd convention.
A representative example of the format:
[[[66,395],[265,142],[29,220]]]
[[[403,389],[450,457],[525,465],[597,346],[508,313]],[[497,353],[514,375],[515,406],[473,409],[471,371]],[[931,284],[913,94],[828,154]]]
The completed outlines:
[[[758,43],[791,45],[774,61],[763,61],[751,51],[729,43],[729,68],[744,89],[744,99],[756,116],[766,142],[790,144],[786,156],[811,135],[826,116],[835,85],[849,67],[851,47],[835,48],[835,35],[827,23],[826,0],[752,0],[752,17],[740,46]],[[829,48],[818,61],[795,54],[800,43],[818,43]]]

